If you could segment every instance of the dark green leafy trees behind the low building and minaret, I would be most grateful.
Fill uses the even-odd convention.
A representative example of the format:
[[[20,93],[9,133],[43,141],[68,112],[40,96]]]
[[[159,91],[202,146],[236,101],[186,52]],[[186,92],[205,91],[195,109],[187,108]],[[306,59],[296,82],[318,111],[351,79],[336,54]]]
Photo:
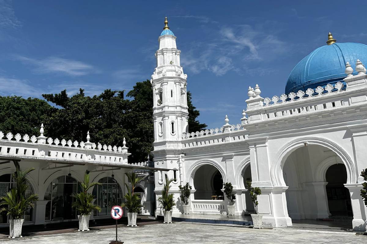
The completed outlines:
[[[127,96],[124,91],[105,90],[100,95],[86,96],[84,90],[68,96],[66,90],[58,94],[42,94],[38,98],[0,96],[0,131],[38,135],[41,123],[45,135],[52,138],[91,141],[102,145],[121,145],[126,138],[132,162],[145,161],[152,150],[153,94],[149,80],[137,82]],[[206,124],[199,123],[200,112],[191,102],[188,91],[189,130],[200,131]]]

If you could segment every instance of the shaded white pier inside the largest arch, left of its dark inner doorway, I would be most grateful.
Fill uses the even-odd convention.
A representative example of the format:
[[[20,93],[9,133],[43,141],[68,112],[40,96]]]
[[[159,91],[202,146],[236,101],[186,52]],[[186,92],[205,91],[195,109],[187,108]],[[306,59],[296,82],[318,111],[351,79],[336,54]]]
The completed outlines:
[[[314,218],[328,218],[331,214],[329,212],[329,205],[327,201],[326,185],[328,182],[307,182],[304,183],[308,192],[310,204],[315,203],[317,213]],[[315,208],[314,208],[315,209]],[[311,211],[313,209],[311,208]],[[309,213],[312,215],[312,212]]]

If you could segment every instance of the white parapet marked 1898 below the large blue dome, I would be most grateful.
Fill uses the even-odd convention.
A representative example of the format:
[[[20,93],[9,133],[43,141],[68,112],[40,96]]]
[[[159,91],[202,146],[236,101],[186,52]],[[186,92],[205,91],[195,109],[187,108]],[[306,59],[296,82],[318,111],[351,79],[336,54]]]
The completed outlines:
[[[249,87],[249,98],[246,100],[248,123],[310,112],[332,113],[330,110],[334,108],[340,110],[340,108],[352,106],[355,103],[365,102],[367,75],[364,65],[359,60],[356,63],[356,71],[358,74],[353,76],[352,67],[349,62],[346,63],[347,77],[344,81],[347,86],[345,89],[343,83],[337,82],[334,86],[327,84],[325,87],[318,86],[315,90],[308,88],[305,92],[291,92],[288,95],[282,94],[280,97],[273,96],[271,99],[268,97],[264,99],[260,96],[261,91],[258,85],[255,90]]]

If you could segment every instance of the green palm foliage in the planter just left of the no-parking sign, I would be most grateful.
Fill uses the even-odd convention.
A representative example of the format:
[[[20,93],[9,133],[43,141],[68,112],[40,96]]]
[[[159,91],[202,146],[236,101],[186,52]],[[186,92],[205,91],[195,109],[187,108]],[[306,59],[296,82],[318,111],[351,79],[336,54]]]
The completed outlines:
[[[81,192],[72,194],[72,197],[75,199],[72,203],[72,207],[76,209],[79,215],[89,215],[94,210],[101,212],[101,207],[93,203],[94,197],[91,193],[88,193],[88,190],[102,184],[99,182],[89,183],[89,172],[87,171],[84,175],[83,182],[79,182],[79,185],[81,187]]]

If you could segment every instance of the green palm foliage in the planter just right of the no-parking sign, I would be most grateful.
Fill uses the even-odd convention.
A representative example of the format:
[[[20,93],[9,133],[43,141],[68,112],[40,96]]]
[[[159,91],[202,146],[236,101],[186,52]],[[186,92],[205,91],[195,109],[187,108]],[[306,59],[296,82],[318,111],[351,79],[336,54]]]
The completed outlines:
[[[137,177],[135,173],[125,173],[125,175],[127,176],[128,181],[131,183],[131,187],[125,183],[127,193],[124,196],[125,202],[121,204],[121,207],[125,207],[130,213],[136,213],[141,210],[143,205],[141,205],[141,200],[139,198],[140,193],[134,193],[134,189],[138,183],[142,181],[143,177]]]

